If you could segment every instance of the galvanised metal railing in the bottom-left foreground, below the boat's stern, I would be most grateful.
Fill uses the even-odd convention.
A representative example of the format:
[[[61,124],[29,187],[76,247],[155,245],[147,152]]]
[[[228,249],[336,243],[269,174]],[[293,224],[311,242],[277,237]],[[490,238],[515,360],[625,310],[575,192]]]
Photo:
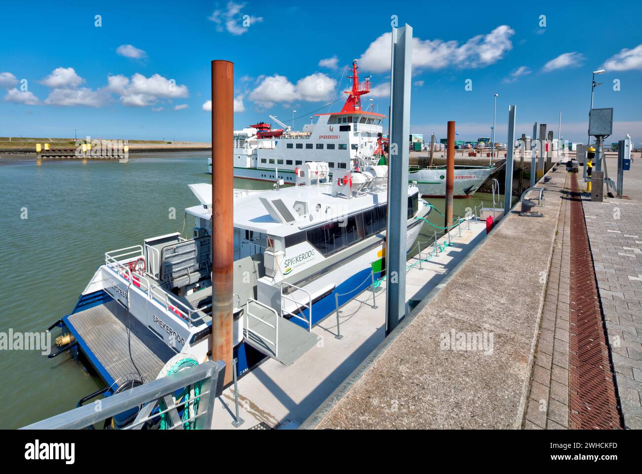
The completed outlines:
[[[94,404],[90,403],[37,421],[21,429],[78,430],[93,427],[96,424],[102,427],[103,423],[101,422],[105,419],[143,405],[134,421],[124,429],[139,430],[148,422],[153,423],[160,414],[165,414],[166,426],[170,430],[184,428],[209,430],[212,428],[214,402],[223,390],[224,374],[225,362],[207,360],[198,366],[180,370],[177,373],[103,398],[98,411]],[[175,392],[195,384],[200,384],[202,390],[198,397],[192,397],[182,402],[174,399]],[[198,402],[198,411],[195,409],[196,402]],[[181,419],[179,411],[188,407],[191,416],[188,419]]]

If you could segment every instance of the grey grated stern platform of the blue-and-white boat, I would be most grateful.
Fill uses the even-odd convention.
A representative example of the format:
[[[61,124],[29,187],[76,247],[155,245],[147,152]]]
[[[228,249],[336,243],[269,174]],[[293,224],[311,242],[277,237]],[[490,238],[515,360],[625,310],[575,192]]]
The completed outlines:
[[[113,302],[112,304],[116,305]],[[88,351],[84,352],[98,359],[90,361],[94,368],[103,376],[104,371],[107,371],[107,382],[120,385],[125,380],[140,378],[136,367],[141,371],[144,381],[149,382],[156,379],[164,365],[134,332],[129,340],[128,328],[104,304],[71,314],[66,319],[67,327],[72,333],[76,333],[74,337],[79,344],[86,344]],[[132,316],[132,320],[134,319]],[[136,367],[132,364],[132,359],[136,361]],[[96,362],[100,366],[97,366]]]

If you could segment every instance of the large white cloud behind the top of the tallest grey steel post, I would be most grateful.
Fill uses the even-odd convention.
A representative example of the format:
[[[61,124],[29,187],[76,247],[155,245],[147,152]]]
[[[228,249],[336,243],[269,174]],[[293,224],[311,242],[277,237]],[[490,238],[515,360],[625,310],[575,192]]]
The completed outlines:
[[[487,35],[477,35],[464,44],[455,40],[421,40],[412,38],[412,65],[419,69],[453,67],[484,67],[498,62],[512,49],[510,37],[515,31],[500,25]],[[392,33],[383,33],[370,43],[361,55],[360,67],[365,71],[384,72],[390,69]]]

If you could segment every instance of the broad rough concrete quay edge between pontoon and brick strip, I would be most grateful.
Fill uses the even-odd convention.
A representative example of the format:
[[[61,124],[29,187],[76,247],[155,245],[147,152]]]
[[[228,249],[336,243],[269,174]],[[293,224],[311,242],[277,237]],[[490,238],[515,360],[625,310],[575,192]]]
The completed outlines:
[[[544,217],[503,219],[304,427],[520,428],[565,174]]]

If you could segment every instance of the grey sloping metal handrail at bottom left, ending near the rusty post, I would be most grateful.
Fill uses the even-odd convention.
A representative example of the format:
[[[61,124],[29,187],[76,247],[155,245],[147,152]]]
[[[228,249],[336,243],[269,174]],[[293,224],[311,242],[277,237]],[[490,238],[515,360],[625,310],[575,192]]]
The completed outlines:
[[[83,405],[82,407],[60,413],[50,418],[37,421],[22,430],[52,430],[52,429],[81,429],[94,425],[99,421],[115,416],[119,413],[127,411],[132,408],[137,408],[143,404],[147,404],[143,408],[144,412],[151,414],[153,408],[160,400],[166,396],[172,396],[175,391],[187,387],[188,385],[196,384],[197,382],[205,382],[205,390],[199,394],[199,408],[203,407],[204,411],[199,411],[195,418],[202,418],[205,416],[204,426],[200,428],[211,429],[212,414],[216,395],[222,388],[222,375],[224,373],[225,363],[221,360],[214,362],[207,360],[198,366],[183,369],[167,377],[162,377],[157,380],[152,380],[143,385],[138,385],[132,389],[116,393],[101,400],[101,409],[96,411],[94,405]],[[209,379],[209,383],[207,382]],[[207,396],[206,396],[207,395]],[[171,411],[174,407],[184,405],[185,403],[193,403],[192,400],[187,402],[175,403],[166,411]],[[154,413],[154,417],[158,414]],[[142,425],[146,421],[153,419],[152,416],[137,418],[135,423],[126,427],[126,429],[137,428],[134,425]],[[171,417],[168,417],[171,418]],[[190,420],[191,421],[191,420]],[[180,420],[178,424],[173,425],[171,428],[182,428],[185,421]]]

